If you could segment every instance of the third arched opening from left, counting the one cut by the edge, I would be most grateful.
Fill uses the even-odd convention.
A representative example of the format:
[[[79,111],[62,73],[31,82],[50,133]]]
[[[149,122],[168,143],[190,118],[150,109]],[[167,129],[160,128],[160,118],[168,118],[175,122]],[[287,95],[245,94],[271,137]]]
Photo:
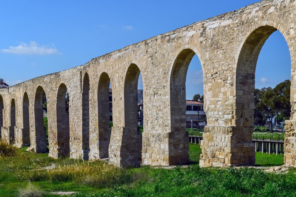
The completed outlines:
[[[22,145],[30,146],[29,97],[24,93],[22,100]]]

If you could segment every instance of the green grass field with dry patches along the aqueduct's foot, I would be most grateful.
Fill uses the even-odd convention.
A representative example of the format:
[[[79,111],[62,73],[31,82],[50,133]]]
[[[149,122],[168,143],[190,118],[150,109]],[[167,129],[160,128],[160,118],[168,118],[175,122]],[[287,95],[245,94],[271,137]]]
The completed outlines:
[[[192,163],[189,167],[172,170],[149,166],[123,169],[102,161],[53,159],[47,153],[27,152],[26,148],[0,157],[0,196],[17,196],[18,189],[27,188],[29,183],[51,197],[56,195],[49,191],[79,191],[72,197],[296,196],[295,168],[287,174],[250,168],[200,168],[199,144],[189,143]],[[256,165],[282,165],[282,162],[283,155],[256,153]],[[57,169],[43,169],[52,163]]]

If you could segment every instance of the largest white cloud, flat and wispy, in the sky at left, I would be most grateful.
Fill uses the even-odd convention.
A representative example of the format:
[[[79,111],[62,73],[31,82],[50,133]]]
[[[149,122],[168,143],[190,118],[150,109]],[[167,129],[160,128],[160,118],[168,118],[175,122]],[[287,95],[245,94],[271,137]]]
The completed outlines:
[[[30,44],[20,43],[20,45],[8,49],[1,49],[2,53],[12,54],[26,54],[26,55],[50,55],[59,53],[56,48],[47,48],[44,45],[38,45],[35,41],[31,41]]]

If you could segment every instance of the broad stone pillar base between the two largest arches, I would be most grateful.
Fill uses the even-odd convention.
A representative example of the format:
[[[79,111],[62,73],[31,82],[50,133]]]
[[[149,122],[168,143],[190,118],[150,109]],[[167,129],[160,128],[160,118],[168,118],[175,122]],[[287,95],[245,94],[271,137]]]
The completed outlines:
[[[200,142],[201,167],[252,165],[255,163],[255,143],[252,127],[205,126]]]

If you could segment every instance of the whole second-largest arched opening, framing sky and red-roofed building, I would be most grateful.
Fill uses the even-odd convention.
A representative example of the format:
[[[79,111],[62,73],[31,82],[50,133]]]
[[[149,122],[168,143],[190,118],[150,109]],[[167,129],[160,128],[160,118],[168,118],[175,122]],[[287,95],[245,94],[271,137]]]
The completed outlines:
[[[196,57],[194,57],[196,56]],[[202,69],[198,70],[194,65],[192,73],[190,73],[189,84],[186,84],[186,76],[189,64],[194,58],[195,63],[198,64],[198,57],[191,49],[182,50],[172,67],[170,76],[170,124],[171,132],[169,134],[169,163],[170,165],[187,164],[189,163],[189,133],[186,131],[190,129],[195,134],[199,131],[204,122],[202,115],[203,103],[200,100],[194,101],[199,84],[196,79],[199,79],[200,85],[203,86]],[[186,100],[186,85],[189,87],[190,92],[187,93]],[[200,99],[202,96],[203,88],[199,89]],[[191,99],[192,98],[192,99]],[[202,122],[202,123],[201,123]],[[193,139],[193,138],[192,138]],[[196,143],[196,140],[193,139]],[[191,142],[193,142],[191,141]],[[195,159],[197,160],[197,159]],[[193,162],[198,162],[197,161]]]

